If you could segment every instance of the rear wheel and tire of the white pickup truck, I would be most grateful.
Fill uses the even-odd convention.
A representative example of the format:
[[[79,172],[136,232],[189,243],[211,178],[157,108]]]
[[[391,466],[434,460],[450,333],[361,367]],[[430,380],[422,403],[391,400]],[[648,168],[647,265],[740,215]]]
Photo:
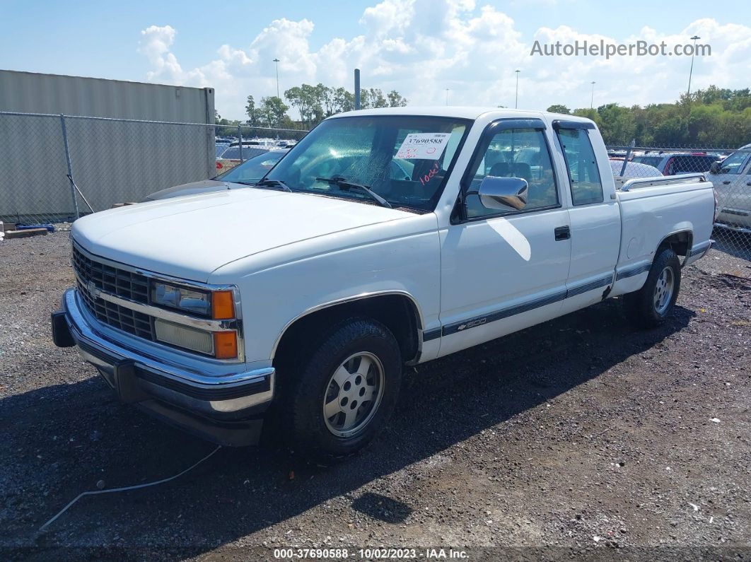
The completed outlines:
[[[653,261],[644,286],[626,295],[626,311],[637,326],[660,326],[672,313],[679,291],[680,260],[671,248],[663,248]]]

